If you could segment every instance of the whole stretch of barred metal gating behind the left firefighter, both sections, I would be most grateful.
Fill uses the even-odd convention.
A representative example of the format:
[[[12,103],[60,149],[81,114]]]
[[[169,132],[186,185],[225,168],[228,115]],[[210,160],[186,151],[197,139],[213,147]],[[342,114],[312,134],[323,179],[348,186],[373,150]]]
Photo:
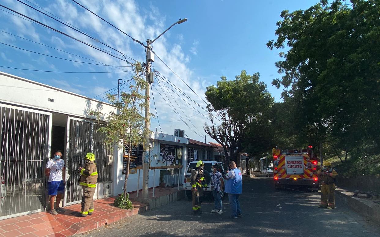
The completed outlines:
[[[106,155],[111,154],[104,144],[105,135],[97,132],[105,124],[78,118],[67,118],[67,165],[70,175],[65,187],[64,205],[81,202],[82,187],[79,186],[78,167],[84,167],[84,156],[88,152],[95,154],[98,170],[98,182],[111,181],[111,166],[107,165]]]

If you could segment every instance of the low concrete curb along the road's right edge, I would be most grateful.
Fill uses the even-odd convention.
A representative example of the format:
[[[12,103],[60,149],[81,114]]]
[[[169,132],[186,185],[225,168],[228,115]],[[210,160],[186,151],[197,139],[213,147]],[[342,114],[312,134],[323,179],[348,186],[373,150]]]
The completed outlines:
[[[344,202],[348,207],[362,216],[380,223],[380,205],[372,202],[370,199],[353,197],[353,192],[346,189],[336,188],[336,196]]]

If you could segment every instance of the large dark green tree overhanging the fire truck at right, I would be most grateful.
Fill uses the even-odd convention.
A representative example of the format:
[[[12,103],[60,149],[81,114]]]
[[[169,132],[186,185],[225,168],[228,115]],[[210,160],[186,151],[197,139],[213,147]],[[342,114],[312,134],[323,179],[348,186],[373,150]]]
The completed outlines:
[[[322,0],[304,11],[284,10],[277,40],[267,43],[271,50],[289,48],[279,53],[282,78],[272,84],[285,87],[282,97],[297,114],[294,127],[313,134],[321,157],[331,140],[340,149],[357,139],[380,145],[379,11],[379,0],[330,6]]]

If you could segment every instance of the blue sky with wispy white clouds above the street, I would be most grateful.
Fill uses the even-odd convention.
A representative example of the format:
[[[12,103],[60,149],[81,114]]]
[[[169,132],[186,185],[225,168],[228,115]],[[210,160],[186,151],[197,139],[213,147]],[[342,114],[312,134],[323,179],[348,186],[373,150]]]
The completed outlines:
[[[72,0],[20,1],[46,14],[53,14],[55,18],[59,17],[96,40],[54,21],[17,0],[1,0],[0,4],[74,38],[111,51],[113,55],[122,52],[132,63],[136,60],[139,62],[146,60],[145,49],[142,45]],[[279,51],[270,51],[266,43],[276,39],[274,33],[277,29],[276,22],[281,19],[279,15],[282,10],[287,9],[290,12],[299,9],[306,10],[318,3],[318,0],[76,1],[144,44],[147,39],[154,39],[180,18],[187,18],[186,22],[174,25],[153,43],[155,53],[180,78],[157,57],[152,66],[193,101],[181,95],[176,89],[173,90],[178,95],[170,91],[165,87],[169,84],[162,79],[160,80],[162,85],[155,80],[152,87],[153,95],[150,94],[151,98],[154,97],[154,103],[152,99],[150,100],[150,111],[157,116],[152,119],[151,130],[157,129],[158,132],[174,135],[174,129],[182,129],[185,130],[187,137],[201,142],[204,142],[206,135],[203,124],[205,122],[210,124],[204,110],[206,108],[204,101],[207,101],[204,92],[207,86],[215,85],[221,76],[233,80],[242,70],[246,70],[250,75],[259,72],[260,80],[267,84],[268,91],[275,101],[282,101],[280,96],[282,88],[277,89],[271,84],[273,79],[280,77],[275,67],[275,62],[280,60]],[[129,66],[127,62],[9,12],[20,16],[0,6],[1,72],[105,102],[105,92],[117,94],[115,87],[117,87],[118,79],[126,81],[131,78],[131,72],[125,72],[131,70],[130,67],[126,67]],[[101,45],[100,41],[119,52]],[[41,54],[92,64],[72,62]],[[122,84],[120,88],[122,91],[128,91],[128,84]],[[206,142],[214,142],[214,140],[206,136]]]

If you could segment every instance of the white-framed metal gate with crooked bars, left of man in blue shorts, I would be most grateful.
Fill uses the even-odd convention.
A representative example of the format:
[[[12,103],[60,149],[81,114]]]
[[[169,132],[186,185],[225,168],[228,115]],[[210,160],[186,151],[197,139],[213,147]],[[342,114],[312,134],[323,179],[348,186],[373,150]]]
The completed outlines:
[[[0,104],[0,220],[44,210],[51,113]]]

